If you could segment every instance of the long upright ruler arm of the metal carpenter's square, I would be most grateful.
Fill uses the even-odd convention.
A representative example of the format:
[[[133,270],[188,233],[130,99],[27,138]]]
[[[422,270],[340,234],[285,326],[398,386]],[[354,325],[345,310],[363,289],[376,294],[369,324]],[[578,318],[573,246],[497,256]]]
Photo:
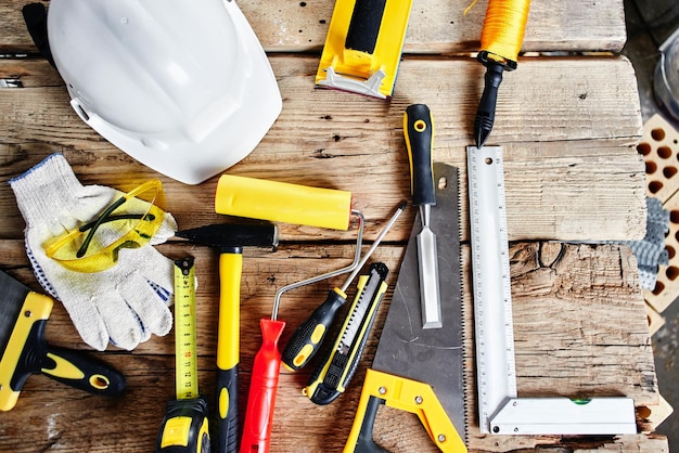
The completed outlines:
[[[479,428],[516,398],[509,243],[502,148],[469,146],[472,286]]]

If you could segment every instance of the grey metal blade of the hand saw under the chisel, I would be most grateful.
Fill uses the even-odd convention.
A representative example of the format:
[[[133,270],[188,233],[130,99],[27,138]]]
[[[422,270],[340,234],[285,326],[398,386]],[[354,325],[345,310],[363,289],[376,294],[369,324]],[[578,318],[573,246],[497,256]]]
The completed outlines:
[[[434,164],[431,228],[437,236],[443,328],[422,328],[415,219],[372,368],[431,385],[465,440],[463,325],[460,284],[458,168]],[[439,181],[445,178],[441,189]]]

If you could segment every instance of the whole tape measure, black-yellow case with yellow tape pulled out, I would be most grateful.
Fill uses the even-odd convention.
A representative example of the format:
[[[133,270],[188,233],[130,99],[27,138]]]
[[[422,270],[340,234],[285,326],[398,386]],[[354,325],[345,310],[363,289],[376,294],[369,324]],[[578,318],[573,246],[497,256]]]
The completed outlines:
[[[175,391],[158,431],[156,452],[208,453],[207,401],[198,394],[195,344],[195,269],[192,258],[175,261]]]

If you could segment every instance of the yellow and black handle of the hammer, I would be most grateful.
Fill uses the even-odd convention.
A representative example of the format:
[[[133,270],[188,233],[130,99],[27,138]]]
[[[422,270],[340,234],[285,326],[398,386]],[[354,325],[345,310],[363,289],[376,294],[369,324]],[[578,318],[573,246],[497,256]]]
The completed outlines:
[[[241,247],[223,248],[219,255],[219,327],[217,336],[216,436],[217,453],[238,451],[240,299],[243,255]]]

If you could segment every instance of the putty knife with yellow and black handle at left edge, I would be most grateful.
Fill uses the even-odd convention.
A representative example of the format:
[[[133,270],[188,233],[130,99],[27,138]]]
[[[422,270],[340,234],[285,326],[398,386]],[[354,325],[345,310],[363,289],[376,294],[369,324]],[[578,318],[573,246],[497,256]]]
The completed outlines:
[[[125,390],[125,377],[106,363],[46,342],[44,328],[54,305],[50,297],[2,271],[0,294],[0,411],[14,407],[26,379],[37,373],[105,397]]]

